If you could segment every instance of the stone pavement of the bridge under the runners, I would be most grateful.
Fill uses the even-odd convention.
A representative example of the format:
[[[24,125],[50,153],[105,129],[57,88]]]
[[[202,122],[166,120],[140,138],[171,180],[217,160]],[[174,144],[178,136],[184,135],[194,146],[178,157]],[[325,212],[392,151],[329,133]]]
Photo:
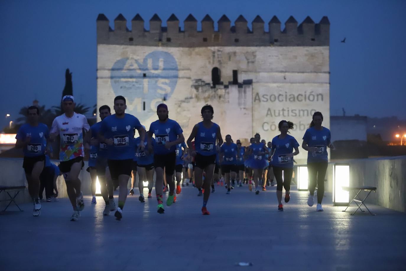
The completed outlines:
[[[85,197],[77,222],[69,221],[67,199],[43,203],[40,217],[32,216],[32,204],[22,204],[24,212],[14,206],[0,215],[0,269],[406,269],[406,214],[370,205],[376,216],[359,211],[351,216],[333,207],[329,194],[324,212],[316,212],[316,205],[306,204],[307,192],[296,187],[285,211],[278,212],[275,190],[255,195],[245,185],[225,195],[216,186],[209,216],[201,215],[203,199],[191,186],[163,215],[156,212],[154,191],[144,204],[137,194],[128,196],[121,221],[113,213],[103,217],[102,197],[97,204]]]

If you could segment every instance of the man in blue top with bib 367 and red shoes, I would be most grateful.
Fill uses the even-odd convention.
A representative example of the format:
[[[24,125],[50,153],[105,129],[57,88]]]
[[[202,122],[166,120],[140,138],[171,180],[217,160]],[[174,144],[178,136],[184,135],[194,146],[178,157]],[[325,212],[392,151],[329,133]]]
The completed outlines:
[[[216,163],[216,154],[220,151],[220,146],[223,143],[221,137],[220,126],[212,121],[214,115],[213,106],[206,104],[202,107],[201,116],[203,121],[196,124],[190,137],[187,141],[189,154],[195,158],[195,185],[199,189],[201,195],[201,187],[203,186],[203,207],[202,214],[209,215],[206,205],[210,196],[210,185],[213,178],[214,167]],[[192,140],[194,139],[194,148]],[[216,142],[218,142],[216,144]],[[205,172],[205,180],[203,183],[203,171]]]

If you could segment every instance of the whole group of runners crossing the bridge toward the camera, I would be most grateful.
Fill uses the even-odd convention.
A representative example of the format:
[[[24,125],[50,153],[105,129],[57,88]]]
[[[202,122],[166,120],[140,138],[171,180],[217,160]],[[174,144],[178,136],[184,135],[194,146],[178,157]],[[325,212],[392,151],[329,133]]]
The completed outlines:
[[[46,155],[51,152],[50,142],[59,138],[60,164],[58,170],[63,174],[67,194],[73,208],[72,221],[77,221],[84,208],[79,173],[84,166],[85,150],[89,151],[89,168],[95,198],[95,180],[98,177],[101,194],[105,202],[103,215],[114,212],[117,220],[123,217],[127,195],[134,195],[136,174],[138,174],[138,199],[145,202],[143,181],[148,182],[148,197],[151,198],[153,176],[155,173],[155,194],[158,202],[157,212],[165,212],[164,192],[168,191],[166,206],[176,202],[181,186],[191,182],[203,196],[203,215],[209,215],[207,202],[214,192],[214,183],[225,180],[227,194],[234,186],[248,184],[250,191],[258,195],[259,187],[273,184],[276,180],[278,210],[283,211],[282,191],[285,188],[285,202],[290,199],[290,183],[293,175],[293,156],[299,153],[299,143],[289,135],[294,124],[279,122],[279,135],[271,142],[261,141],[257,133],[247,147],[240,140],[233,142],[231,135],[223,142],[220,126],[212,121],[214,108],[206,104],[201,108],[203,121],[197,123],[186,140],[181,126],[169,119],[166,104],[157,106],[158,120],[149,129],[140,124],[133,115],[125,113],[126,100],[123,96],[114,98],[114,114],[110,107],[99,108],[101,121],[89,126],[84,115],[74,112],[73,96],[62,99],[64,113],[56,117],[50,132],[45,124],[38,122],[39,109],[28,108],[28,121],[17,132],[16,147],[23,148],[23,167],[28,182],[28,191],[34,203],[34,216],[40,215],[39,176],[45,167]],[[322,211],[324,195],[324,176],[327,169],[327,147],[334,148],[330,142],[330,130],[322,126],[323,115],[313,114],[309,129],[303,136],[302,148],[308,152],[309,170],[308,205],[314,204],[314,191],[317,191],[317,211]],[[135,130],[139,137],[134,138]],[[221,171],[221,173],[220,173]],[[183,174],[182,174],[183,173]],[[273,173],[273,174],[272,174]],[[59,173],[58,173],[59,174]],[[182,175],[184,180],[181,183]],[[222,178],[221,176],[224,175]],[[274,176],[274,177],[273,177]],[[130,193],[127,185],[132,178]],[[114,188],[119,188],[117,206],[114,201]]]

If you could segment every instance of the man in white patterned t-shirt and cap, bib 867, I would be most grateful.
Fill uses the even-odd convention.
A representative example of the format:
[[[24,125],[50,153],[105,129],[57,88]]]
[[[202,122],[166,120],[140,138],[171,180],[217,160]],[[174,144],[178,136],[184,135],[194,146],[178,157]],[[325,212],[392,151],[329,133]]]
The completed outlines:
[[[84,143],[84,134],[89,131],[87,119],[82,114],[74,112],[75,99],[71,95],[62,98],[64,114],[52,122],[51,139],[60,137],[59,169],[66,182],[66,190],[73,206],[71,221],[78,221],[80,211],[84,208],[83,195],[80,190],[79,173],[84,166],[84,145],[90,149],[89,143]]]

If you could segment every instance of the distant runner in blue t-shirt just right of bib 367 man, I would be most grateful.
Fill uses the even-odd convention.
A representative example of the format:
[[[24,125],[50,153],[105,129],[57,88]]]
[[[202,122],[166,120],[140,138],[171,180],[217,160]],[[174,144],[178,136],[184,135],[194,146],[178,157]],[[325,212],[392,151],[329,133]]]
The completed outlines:
[[[231,193],[231,189],[234,189],[235,178],[237,177],[237,156],[238,153],[237,144],[232,142],[231,135],[226,135],[226,142],[221,145],[220,148],[220,160],[221,160],[221,171],[225,173],[225,182],[227,185],[227,193]],[[232,182],[230,183],[230,179]]]

